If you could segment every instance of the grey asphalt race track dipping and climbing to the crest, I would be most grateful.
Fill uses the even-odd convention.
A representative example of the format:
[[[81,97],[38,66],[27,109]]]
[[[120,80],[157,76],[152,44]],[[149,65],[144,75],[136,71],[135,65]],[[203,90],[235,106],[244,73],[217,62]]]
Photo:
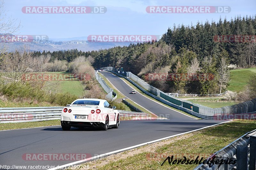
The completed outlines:
[[[26,153],[85,153],[88,157],[203,128],[221,120],[198,120],[164,107],[148,98],[129,94],[132,88],[108,72],[101,72],[126,97],[168,120],[121,121],[118,129],[71,128],[61,126],[0,131],[0,165],[58,166],[77,160],[26,160]],[[23,158],[22,158],[23,156]],[[87,157],[87,158],[88,158]],[[17,169],[17,168],[14,168]]]

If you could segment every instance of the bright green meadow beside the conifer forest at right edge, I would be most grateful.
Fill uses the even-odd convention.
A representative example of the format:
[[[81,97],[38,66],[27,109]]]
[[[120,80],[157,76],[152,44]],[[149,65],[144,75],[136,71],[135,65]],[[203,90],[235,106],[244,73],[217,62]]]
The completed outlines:
[[[231,70],[228,90],[232,92],[243,91],[249,79],[255,74],[256,68]]]

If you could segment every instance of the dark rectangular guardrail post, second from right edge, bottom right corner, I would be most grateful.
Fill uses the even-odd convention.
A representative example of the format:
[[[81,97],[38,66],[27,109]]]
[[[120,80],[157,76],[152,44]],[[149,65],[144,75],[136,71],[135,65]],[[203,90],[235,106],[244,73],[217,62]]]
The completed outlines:
[[[247,170],[247,146],[237,145],[236,146],[236,169]]]

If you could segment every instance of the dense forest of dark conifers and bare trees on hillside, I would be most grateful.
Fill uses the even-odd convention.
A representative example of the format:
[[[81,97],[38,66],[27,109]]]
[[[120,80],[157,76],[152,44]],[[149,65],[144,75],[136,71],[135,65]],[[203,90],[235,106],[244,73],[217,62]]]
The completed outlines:
[[[256,16],[237,16],[229,21],[220,18],[218,22],[198,22],[191,26],[174,25],[168,28],[159,41],[87,52],[77,49],[35,51],[32,56],[43,56],[50,63],[60,64],[60,61],[65,61],[64,65],[78,56],[85,56],[94,68],[123,67],[125,71],[131,71],[164,92],[211,94],[226,90],[230,69],[255,67],[255,33]],[[235,35],[242,39],[219,39]],[[244,41],[246,36],[249,36],[249,41]],[[165,74],[167,78],[148,80],[149,73]],[[213,78],[172,78],[170,81],[170,76],[191,74],[211,74]]]

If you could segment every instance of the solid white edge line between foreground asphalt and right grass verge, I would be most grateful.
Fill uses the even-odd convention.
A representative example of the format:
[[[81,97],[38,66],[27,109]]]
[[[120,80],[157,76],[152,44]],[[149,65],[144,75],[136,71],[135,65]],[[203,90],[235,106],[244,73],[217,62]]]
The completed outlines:
[[[233,121],[233,120],[230,120],[230,121]],[[227,122],[230,122],[230,121],[227,121]],[[61,169],[68,168],[71,165],[81,164],[81,163],[89,162],[89,161],[92,161],[92,160],[95,160],[95,159],[100,159],[100,158],[103,158],[103,157],[106,157],[106,156],[109,156],[109,155],[112,155],[112,154],[115,154],[115,153],[123,152],[123,151],[130,150],[130,149],[134,149],[134,148],[146,145],[146,144],[152,144],[152,143],[164,140],[164,139],[184,135],[184,134],[187,134],[187,133],[190,133],[190,132],[195,132],[197,130],[202,130],[202,129],[205,129],[205,128],[209,128],[209,127],[216,126],[216,125],[219,125],[219,124],[222,124],[222,123],[227,123],[227,122],[221,122],[221,123],[217,123],[217,124],[214,124],[214,125],[211,125],[211,126],[206,126],[204,128],[191,130],[191,131],[188,131],[188,132],[180,133],[180,134],[177,134],[177,135],[172,135],[172,136],[169,136],[169,137],[164,137],[164,138],[161,138],[161,139],[156,139],[156,140],[146,142],[146,143],[143,143],[143,144],[137,144],[137,145],[130,146],[130,147],[127,147],[127,148],[124,148],[124,149],[119,149],[119,150],[116,150],[116,151],[112,151],[112,152],[104,153],[104,154],[101,154],[101,155],[97,155],[97,156],[94,156],[94,157],[91,157],[91,158],[82,159],[82,160],[78,160],[76,162],[72,162],[72,163],[69,163],[69,164],[57,166],[57,167],[54,167],[54,168],[51,168],[51,169],[48,169],[48,170],[57,170],[57,169],[60,169],[60,168]]]

